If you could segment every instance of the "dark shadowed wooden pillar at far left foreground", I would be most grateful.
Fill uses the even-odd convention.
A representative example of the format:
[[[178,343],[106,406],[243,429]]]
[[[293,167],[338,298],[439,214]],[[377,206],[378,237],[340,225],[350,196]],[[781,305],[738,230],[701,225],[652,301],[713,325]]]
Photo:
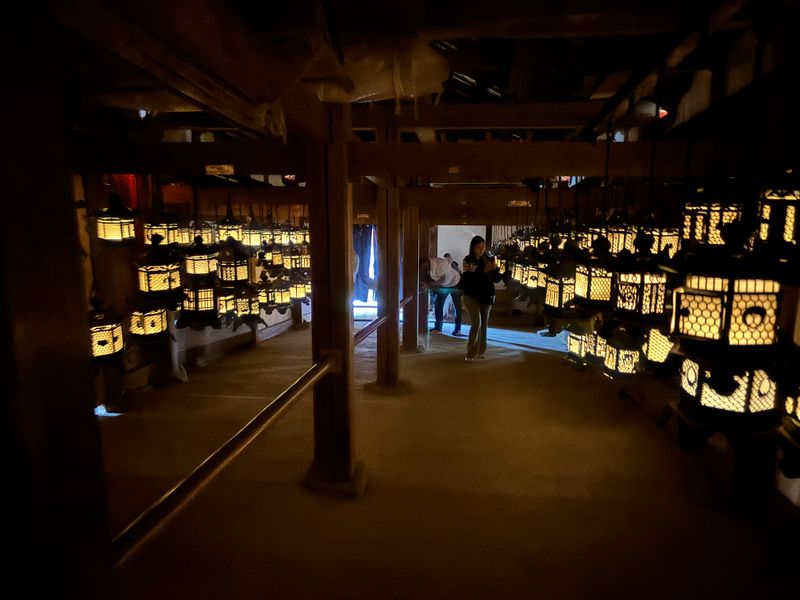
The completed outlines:
[[[36,10],[24,7],[22,12]],[[21,21],[21,22],[20,22]],[[31,597],[110,598],[110,532],[94,416],[89,309],[53,34],[15,13],[2,36],[0,340],[4,586]],[[8,25],[8,24],[7,24]],[[41,30],[32,41],[30,31]],[[8,44],[8,46],[6,46]]]

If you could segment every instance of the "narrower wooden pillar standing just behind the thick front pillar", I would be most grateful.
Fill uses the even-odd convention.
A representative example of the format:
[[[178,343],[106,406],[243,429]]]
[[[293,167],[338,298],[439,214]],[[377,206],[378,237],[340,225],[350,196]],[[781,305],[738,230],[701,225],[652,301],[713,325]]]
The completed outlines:
[[[378,191],[378,377],[381,388],[394,388],[400,379],[400,203],[396,187]]]

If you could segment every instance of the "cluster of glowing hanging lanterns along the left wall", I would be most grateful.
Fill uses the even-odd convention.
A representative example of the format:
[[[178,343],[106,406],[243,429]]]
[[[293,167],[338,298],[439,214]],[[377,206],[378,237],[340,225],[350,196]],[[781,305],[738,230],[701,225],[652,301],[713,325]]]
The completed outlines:
[[[95,220],[98,238],[134,239],[134,211],[116,194],[109,205]],[[128,326],[135,339],[160,339],[168,329],[168,310],[180,311],[179,328],[220,327],[224,319],[233,321],[235,330],[242,323],[264,323],[262,309],[285,313],[292,300],[307,302],[311,294],[307,227],[239,223],[229,202],[226,218],[218,223],[182,226],[160,215],[144,224],[144,233],[149,249],[137,265],[138,293]],[[188,246],[187,234],[194,234]],[[219,245],[216,238],[222,240]],[[254,284],[251,255],[265,248],[268,260],[261,251],[258,258],[268,275]],[[92,356],[118,355],[124,347],[123,319],[96,304],[89,314]]]

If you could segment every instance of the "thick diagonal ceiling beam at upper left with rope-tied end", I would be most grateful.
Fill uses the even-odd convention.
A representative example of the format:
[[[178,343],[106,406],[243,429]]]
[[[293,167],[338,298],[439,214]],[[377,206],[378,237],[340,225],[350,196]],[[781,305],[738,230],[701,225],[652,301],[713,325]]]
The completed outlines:
[[[116,9],[101,0],[55,5],[64,25],[247,131],[285,135],[285,113],[291,133],[323,136],[321,103],[295,85],[308,65],[289,68],[221,2],[146,0]]]

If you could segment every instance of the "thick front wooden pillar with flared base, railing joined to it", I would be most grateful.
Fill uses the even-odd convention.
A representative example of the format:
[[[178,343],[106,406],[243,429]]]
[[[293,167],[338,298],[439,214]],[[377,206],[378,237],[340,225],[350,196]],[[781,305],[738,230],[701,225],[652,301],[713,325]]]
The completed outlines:
[[[347,182],[350,107],[329,109],[330,139],[309,146],[311,229],[311,340],[314,362],[338,361],[314,386],[314,461],[306,476],[312,489],[358,495],[363,465],[353,459],[353,265],[352,190]]]

